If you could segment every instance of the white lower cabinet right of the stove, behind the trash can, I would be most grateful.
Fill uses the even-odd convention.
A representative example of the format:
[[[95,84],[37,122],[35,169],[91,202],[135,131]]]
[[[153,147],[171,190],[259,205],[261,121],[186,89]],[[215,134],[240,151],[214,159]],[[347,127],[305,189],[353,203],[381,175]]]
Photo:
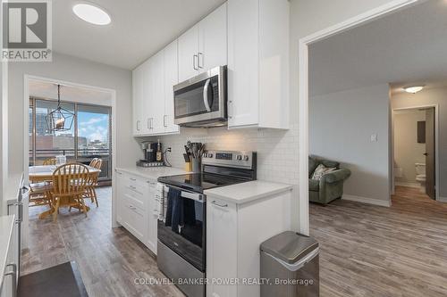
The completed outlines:
[[[259,246],[291,229],[291,192],[234,203],[207,194],[207,297],[258,297]],[[280,215],[281,214],[281,215]]]

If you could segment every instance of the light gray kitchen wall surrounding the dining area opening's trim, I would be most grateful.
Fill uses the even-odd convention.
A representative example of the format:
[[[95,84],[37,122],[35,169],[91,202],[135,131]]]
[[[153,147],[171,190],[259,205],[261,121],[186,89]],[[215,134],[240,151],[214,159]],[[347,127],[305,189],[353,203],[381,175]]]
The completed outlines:
[[[61,79],[116,91],[116,160],[119,166],[134,164],[139,147],[131,136],[131,71],[53,54],[53,62],[13,62],[9,69],[9,161],[11,172],[23,170],[24,114],[23,78],[25,74]]]

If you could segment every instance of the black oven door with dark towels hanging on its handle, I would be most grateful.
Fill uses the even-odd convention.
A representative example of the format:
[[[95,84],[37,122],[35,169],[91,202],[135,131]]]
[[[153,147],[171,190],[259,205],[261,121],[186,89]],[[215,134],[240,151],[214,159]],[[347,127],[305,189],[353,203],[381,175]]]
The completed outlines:
[[[157,236],[181,258],[205,272],[206,196],[164,186],[178,195],[164,194],[164,219],[158,219]],[[164,191],[167,192],[167,191]]]

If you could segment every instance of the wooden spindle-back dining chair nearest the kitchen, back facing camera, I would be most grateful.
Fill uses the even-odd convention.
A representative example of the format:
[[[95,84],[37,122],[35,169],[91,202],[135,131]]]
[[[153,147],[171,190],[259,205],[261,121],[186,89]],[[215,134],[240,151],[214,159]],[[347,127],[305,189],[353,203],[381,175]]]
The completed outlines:
[[[67,163],[53,172],[53,189],[51,191],[55,204],[53,220],[57,220],[60,207],[68,206],[83,211],[87,217],[87,207],[82,195],[89,182],[89,168],[80,163]]]

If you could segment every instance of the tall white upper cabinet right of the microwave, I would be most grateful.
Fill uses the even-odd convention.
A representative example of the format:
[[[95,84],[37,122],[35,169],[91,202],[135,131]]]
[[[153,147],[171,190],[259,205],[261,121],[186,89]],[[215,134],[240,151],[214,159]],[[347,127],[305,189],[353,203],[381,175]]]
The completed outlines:
[[[228,127],[289,128],[289,2],[227,4]]]

